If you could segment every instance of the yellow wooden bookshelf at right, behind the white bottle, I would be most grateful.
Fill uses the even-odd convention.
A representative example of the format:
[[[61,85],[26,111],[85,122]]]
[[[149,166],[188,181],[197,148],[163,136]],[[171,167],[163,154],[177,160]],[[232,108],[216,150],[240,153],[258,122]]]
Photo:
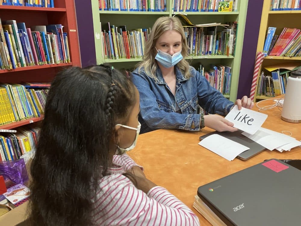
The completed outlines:
[[[262,16],[260,22],[257,51],[262,52],[264,42],[266,39],[266,33],[268,27],[276,27],[276,35],[279,35],[284,27],[289,28],[298,28],[301,29],[301,10],[279,10],[279,11],[270,11],[271,0],[263,1]],[[272,66],[275,64],[283,64],[285,62],[300,62],[301,57],[283,57],[283,56],[266,56],[263,60],[262,66],[259,68],[258,77],[257,77],[257,86],[255,89],[255,98],[254,101],[259,101],[261,99],[269,99],[270,97],[258,96],[257,87],[259,77],[261,76],[262,69],[267,66]]]

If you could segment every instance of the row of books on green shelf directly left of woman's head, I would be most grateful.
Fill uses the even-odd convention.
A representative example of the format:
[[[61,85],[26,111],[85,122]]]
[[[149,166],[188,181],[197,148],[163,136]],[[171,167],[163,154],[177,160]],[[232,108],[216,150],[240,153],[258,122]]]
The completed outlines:
[[[106,24],[101,32],[105,59],[142,58],[144,46],[151,29],[126,30],[126,26]]]

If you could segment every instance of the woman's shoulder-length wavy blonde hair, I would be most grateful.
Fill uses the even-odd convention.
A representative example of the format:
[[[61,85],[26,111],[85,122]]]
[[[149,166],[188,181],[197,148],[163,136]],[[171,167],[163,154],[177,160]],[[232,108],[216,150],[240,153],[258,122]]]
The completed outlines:
[[[141,73],[142,68],[144,68],[145,73],[154,79],[156,78],[156,70],[158,65],[155,60],[155,56],[157,54],[157,50],[155,49],[156,42],[159,37],[168,30],[174,30],[181,34],[182,36],[182,51],[181,54],[183,59],[178,62],[177,66],[180,68],[185,78],[190,77],[189,73],[189,63],[185,60],[188,57],[188,44],[187,39],[184,33],[184,29],[182,27],[181,21],[177,17],[159,17],[151,30],[151,33],[148,36],[144,55],[142,57],[142,61],[137,64],[138,72]]]

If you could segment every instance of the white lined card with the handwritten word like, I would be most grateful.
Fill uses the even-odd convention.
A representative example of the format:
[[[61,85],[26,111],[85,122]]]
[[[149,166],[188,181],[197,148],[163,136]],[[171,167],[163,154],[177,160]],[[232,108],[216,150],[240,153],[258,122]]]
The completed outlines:
[[[234,127],[249,134],[254,134],[262,126],[268,115],[247,108],[238,110],[237,105],[225,117],[234,123]]]

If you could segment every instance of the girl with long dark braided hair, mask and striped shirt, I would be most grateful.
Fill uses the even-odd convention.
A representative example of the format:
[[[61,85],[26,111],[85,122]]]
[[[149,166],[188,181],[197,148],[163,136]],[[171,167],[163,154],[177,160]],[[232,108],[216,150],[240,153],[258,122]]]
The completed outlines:
[[[139,92],[107,65],[53,80],[30,165],[31,225],[199,225],[126,152],[140,130]]]

